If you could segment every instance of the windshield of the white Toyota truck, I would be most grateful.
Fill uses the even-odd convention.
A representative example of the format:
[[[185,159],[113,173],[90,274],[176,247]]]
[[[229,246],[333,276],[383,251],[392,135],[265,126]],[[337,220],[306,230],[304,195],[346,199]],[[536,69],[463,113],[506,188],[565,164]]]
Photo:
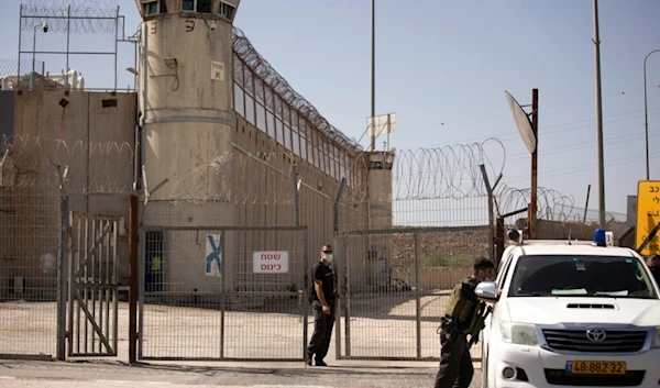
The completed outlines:
[[[658,299],[645,266],[637,257],[520,256],[508,296]]]

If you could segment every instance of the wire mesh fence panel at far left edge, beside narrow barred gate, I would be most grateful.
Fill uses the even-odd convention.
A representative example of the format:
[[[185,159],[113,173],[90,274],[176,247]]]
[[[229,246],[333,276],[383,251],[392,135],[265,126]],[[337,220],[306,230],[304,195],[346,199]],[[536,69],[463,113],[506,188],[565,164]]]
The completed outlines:
[[[59,197],[0,187],[0,354],[56,352]]]

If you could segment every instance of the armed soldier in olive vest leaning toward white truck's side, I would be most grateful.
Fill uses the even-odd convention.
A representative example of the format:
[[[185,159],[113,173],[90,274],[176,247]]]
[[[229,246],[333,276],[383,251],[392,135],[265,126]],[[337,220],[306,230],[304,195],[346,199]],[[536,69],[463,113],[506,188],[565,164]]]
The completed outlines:
[[[479,300],[476,285],[493,277],[495,265],[487,258],[474,260],[472,276],[454,287],[442,317],[440,344],[440,369],[436,376],[436,388],[468,388],[474,375],[468,334],[479,335],[484,328],[486,306]],[[476,339],[476,337],[475,337]]]

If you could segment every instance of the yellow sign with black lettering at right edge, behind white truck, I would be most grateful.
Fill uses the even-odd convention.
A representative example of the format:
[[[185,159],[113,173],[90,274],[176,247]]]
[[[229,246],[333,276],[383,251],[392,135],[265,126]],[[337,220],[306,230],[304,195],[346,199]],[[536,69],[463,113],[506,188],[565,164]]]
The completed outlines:
[[[637,185],[637,225],[635,230],[636,246],[641,243],[660,223],[660,180],[640,180]],[[640,252],[644,256],[660,253],[660,231]]]

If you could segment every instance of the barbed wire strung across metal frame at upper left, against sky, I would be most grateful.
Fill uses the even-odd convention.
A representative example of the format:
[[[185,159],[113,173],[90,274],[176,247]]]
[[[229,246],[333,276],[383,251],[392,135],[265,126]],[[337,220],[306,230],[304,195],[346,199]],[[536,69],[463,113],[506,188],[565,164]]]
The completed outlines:
[[[21,7],[21,29],[47,21],[56,33],[110,34],[119,27],[118,10],[117,0],[28,0]]]

